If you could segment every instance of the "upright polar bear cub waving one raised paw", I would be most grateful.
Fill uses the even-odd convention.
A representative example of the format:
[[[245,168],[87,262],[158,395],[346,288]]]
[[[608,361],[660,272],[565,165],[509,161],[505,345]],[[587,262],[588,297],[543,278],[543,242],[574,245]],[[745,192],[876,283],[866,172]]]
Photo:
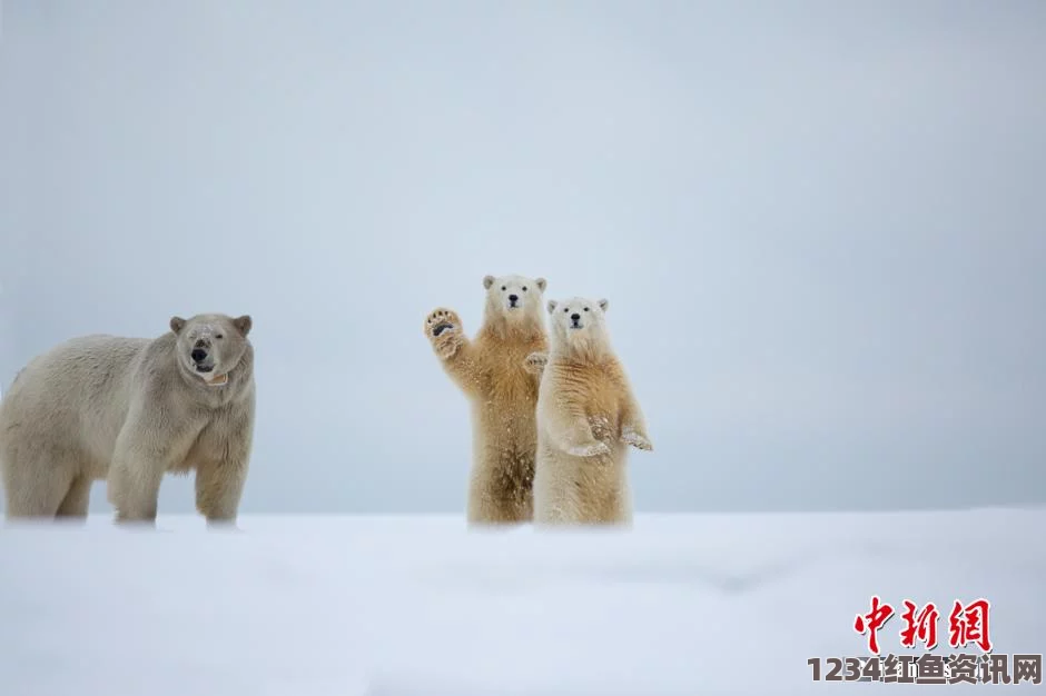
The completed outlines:
[[[470,525],[526,523],[533,515],[539,375],[525,358],[547,349],[545,287],[544,278],[485,276],[483,325],[472,340],[450,309],[425,318],[436,357],[472,405]]]

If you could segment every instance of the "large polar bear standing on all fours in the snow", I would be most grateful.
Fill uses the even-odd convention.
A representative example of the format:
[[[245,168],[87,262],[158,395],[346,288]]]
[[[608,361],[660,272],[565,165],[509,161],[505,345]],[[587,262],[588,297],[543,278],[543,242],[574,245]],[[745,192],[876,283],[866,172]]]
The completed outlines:
[[[249,316],[172,317],[156,339],[93,335],[34,358],[0,401],[8,518],[87,516],[108,479],[118,521],[156,518],[166,473],[196,470],[196,507],[233,521],[254,436]]]

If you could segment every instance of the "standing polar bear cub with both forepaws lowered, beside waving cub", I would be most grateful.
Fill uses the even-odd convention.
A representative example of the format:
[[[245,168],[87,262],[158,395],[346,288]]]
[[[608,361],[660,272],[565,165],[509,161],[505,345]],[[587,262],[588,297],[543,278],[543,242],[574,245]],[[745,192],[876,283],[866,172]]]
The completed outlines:
[[[537,396],[536,525],[630,525],[628,446],[652,450],[639,401],[610,344],[605,299],[549,300],[551,348],[524,359]]]

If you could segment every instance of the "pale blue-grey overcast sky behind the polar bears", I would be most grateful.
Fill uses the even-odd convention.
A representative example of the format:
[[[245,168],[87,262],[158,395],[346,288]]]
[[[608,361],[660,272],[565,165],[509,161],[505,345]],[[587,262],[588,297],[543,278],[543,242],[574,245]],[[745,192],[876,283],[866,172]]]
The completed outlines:
[[[1036,0],[3,0],[0,385],[250,314],[241,511],[463,514],[422,321],[544,276],[639,511],[1046,503],[1044,66]]]

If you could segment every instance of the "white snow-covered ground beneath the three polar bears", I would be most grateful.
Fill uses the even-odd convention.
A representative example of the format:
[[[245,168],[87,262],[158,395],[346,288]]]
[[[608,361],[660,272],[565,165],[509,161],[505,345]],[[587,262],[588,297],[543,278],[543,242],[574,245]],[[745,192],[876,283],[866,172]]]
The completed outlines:
[[[0,528],[0,693],[927,688],[811,682],[810,657],[866,655],[853,619],[871,595],[945,607],[938,652],[953,600],[978,597],[997,653],[1046,648],[1046,510],[648,515],[628,533],[470,533],[457,516],[239,526]],[[880,633],[884,653],[904,652],[900,627]]]

